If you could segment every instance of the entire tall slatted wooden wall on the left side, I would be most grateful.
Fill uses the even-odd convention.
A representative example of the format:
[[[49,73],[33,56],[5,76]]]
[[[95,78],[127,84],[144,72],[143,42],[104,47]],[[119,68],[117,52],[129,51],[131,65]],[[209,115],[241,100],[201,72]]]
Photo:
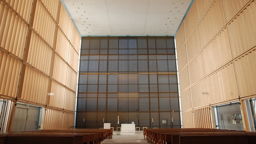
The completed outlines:
[[[74,126],[80,39],[60,0],[1,0],[0,98],[47,109],[41,128]]]

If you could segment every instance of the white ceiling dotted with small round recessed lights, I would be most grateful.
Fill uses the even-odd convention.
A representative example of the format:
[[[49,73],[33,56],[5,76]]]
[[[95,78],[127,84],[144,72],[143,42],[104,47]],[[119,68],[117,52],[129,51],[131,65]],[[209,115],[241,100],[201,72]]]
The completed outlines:
[[[175,35],[192,0],[62,0],[81,36]]]

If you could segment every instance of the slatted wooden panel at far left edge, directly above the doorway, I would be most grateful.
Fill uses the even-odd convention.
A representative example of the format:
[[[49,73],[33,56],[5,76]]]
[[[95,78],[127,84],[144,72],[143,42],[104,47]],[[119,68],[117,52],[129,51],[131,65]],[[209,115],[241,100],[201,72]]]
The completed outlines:
[[[15,97],[21,62],[0,51],[0,94]]]

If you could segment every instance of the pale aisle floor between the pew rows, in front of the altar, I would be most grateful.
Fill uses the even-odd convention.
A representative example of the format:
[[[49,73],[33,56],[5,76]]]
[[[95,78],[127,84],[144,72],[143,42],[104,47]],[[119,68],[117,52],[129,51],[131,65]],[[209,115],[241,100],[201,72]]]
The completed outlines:
[[[101,144],[147,144],[144,140],[143,131],[137,133],[113,132],[112,139],[105,139]]]

